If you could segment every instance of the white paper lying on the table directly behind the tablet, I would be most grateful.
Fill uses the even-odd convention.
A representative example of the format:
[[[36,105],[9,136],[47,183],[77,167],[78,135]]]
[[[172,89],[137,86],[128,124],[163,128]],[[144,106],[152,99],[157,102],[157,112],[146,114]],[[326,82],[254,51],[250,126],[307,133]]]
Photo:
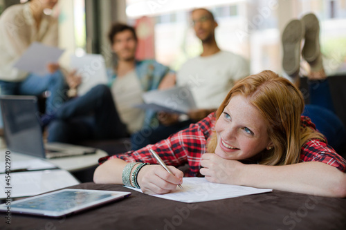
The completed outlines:
[[[7,197],[5,192],[8,187],[10,187],[11,198],[20,198],[80,184],[73,175],[62,169],[10,173],[9,175],[10,184],[8,185],[6,184],[8,175],[0,174],[0,199]]]

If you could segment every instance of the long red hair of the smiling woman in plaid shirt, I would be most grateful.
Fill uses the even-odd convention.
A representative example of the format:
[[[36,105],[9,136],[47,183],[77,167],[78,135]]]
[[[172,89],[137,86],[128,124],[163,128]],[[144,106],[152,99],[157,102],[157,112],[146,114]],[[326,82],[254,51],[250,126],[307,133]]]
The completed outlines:
[[[300,148],[307,140],[325,141],[321,133],[300,126],[300,116],[304,109],[304,99],[300,90],[271,70],[250,75],[235,84],[219,106],[217,119],[233,95],[246,97],[268,123],[268,137],[273,142],[273,148],[270,151],[262,151],[260,164],[298,163]],[[215,153],[216,146],[217,136],[214,133],[208,143],[208,153]]]

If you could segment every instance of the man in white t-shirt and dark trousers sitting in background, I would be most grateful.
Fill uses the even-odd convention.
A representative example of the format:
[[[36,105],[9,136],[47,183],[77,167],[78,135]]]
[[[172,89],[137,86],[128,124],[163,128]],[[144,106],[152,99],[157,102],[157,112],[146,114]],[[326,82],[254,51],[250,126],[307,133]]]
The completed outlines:
[[[197,110],[190,111],[188,120],[184,122],[179,122],[179,115],[161,113],[158,116],[161,126],[151,130],[149,137],[148,131],[132,136],[134,149],[154,144],[203,119],[219,107],[235,82],[250,74],[248,62],[243,57],[220,50],[217,46],[217,22],[209,10],[192,10],[191,17],[196,36],[202,41],[203,52],[183,64],[176,75],[176,85],[190,86]]]

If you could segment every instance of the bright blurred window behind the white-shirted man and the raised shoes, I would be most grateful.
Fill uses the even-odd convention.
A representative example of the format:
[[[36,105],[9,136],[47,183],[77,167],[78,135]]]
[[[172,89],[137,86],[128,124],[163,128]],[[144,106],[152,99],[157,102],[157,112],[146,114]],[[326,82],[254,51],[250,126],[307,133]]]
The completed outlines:
[[[264,69],[280,73],[282,32],[279,30],[279,16],[282,15],[279,15],[279,7],[273,5],[273,2],[280,4],[280,1],[127,0],[127,17],[129,21],[143,15],[155,19],[156,59],[179,70],[186,59],[199,55],[202,50],[190,26],[190,10],[208,8],[219,23],[215,36],[221,49],[249,59],[251,73]],[[302,17],[308,12],[316,13],[320,19],[320,43],[327,73],[346,73],[346,1],[292,0],[289,4],[291,16],[284,21],[293,19],[295,15]],[[281,14],[287,13],[286,9],[281,10],[284,11]]]

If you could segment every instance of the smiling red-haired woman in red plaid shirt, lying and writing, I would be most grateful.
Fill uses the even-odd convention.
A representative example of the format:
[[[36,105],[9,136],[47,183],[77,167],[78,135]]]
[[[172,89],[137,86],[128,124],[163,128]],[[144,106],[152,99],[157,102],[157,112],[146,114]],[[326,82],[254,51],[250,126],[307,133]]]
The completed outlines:
[[[100,158],[94,182],[122,184],[131,176],[145,193],[169,193],[183,183],[176,167],[188,164],[185,175],[209,182],[345,198],[346,160],[303,109],[302,93],[288,79],[270,70],[250,75],[197,124],[138,151]]]

